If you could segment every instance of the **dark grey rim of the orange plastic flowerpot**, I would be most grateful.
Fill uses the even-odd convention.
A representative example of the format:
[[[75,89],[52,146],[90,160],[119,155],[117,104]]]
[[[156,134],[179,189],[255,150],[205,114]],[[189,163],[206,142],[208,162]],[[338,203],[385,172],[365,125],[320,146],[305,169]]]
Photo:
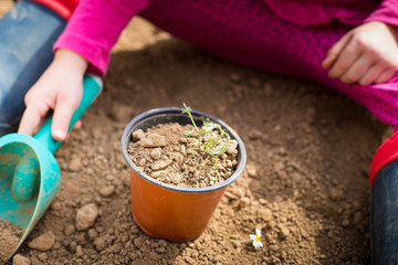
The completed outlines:
[[[188,115],[187,114],[182,114],[181,113],[181,108],[177,108],[177,107],[166,107],[166,108],[155,108],[155,109],[150,109],[147,110],[145,113],[139,114],[138,116],[136,116],[134,119],[132,119],[125,130],[123,131],[122,135],[122,153],[124,159],[126,160],[127,165],[129,166],[129,168],[140,178],[145,179],[146,181],[156,184],[158,187],[171,190],[171,191],[177,191],[177,192],[186,192],[186,193],[203,193],[203,192],[210,192],[210,191],[214,191],[214,190],[219,190],[222,189],[229,184],[231,184],[233,181],[235,181],[238,179],[238,177],[242,173],[243,168],[245,166],[247,162],[247,153],[245,153],[245,149],[243,146],[243,141],[241,140],[241,138],[238,136],[238,134],[230,127],[228,126],[224,121],[212,117],[208,114],[198,112],[198,110],[191,110],[192,116],[195,118],[195,121],[198,120],[212,120],[214,123],[218,123],[221,125],[221,127],[230,135],[231,139],[234,139],[238,141],[238,166],[235,171],[233,172],[233,174],[231,177],[229,177],[227,180],[214,184],[214,186],[209,186],[209,187],[203,187],[203,188],[184,188],[184,187],[177,187],[177,186],[172,186],[172,184],[167,184],[164,182],[160,182],[151,177],[149,177],[148,174],[138,171],[136,169],[136,167],[134,167],[134,163],[132,161],[132,159],[129,158],[129,155],[127,152],[127,145],[128,142],[132,140],[132,134],[133,131],[139,129],[140,125],[144,126],[144,123],[149,123],[153,120],[154,123],[150,126],[146,126],[144,127],[144,131],[146,130],[146,128],[151,127],[154,125],[157,124],[165,124],[165,123],[159,123],[157,121],[158,118],[170,118],[169,121],[166,123],[178,123],[177,120],[172,119],[172,118],[184,118],[187,119]],[[184,123],[187,124],[187,123]],[[200,126],[200,125],[198,125]]]

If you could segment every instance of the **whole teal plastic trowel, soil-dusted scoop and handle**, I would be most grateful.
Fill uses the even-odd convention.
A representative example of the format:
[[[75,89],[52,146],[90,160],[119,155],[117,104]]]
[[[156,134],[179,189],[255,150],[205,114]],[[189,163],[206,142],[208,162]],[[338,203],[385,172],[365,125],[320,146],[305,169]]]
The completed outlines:
[[[70,129],[101,91],[100,77],[84,77],[82,102],[72,116]],[[51,117],[46,119],[34,137],[9,134],[0,138],[0,220],[22,231],[7,259],[27,239],[61,186],[60,168],[53,156],[61,141],[51,137]]]

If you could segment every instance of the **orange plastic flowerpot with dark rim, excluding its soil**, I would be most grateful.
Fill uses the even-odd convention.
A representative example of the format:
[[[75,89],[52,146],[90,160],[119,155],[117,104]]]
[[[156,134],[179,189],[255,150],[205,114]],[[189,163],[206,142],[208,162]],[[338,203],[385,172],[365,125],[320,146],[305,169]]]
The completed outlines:
[[[137,225],[149,236],[171,242],[186,242],[198,237],[208,226],[212,213],[227,187],[242,173],[247,155],[242,140],[226,123],[210,115],[192,110],[198,126],[212,120],[222,126],[231,139],[238,141],[238,165],[234,173],[226,181],[206,188],[180,188],[157,181],[138,171],[127,153],[127,144],[133,131],[144,131],[157,124],[190,124],[180,108],[157,108],[135,117],[122,136],[122,152],[129,166],[133,216]]]

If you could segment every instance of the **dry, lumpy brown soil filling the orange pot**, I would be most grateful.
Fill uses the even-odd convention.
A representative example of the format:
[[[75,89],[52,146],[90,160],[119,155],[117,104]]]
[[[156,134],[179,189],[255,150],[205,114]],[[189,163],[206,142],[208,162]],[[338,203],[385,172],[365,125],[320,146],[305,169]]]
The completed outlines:
[[[170,123],[156,125],[145,132],[134,131],[127,151],[137,170],[184,188],[209,187],[231,177],[238,165],[238,141],[221,138],[220,144],[226,145],[227,151],[214,157],[200,150],[196,131],[185,135],[192,128]]]

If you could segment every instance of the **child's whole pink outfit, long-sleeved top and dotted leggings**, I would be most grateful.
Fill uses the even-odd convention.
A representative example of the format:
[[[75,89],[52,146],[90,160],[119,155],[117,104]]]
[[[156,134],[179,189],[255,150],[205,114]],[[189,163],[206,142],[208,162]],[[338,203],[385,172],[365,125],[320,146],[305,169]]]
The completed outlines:
[[[112,46],[136,14],[229,61],[338,91],[398,128],[397,75],[386,84],[347,85],[321,67],[354,26],[398,26],[398,0],[83,0],[54,49],[80,53],[105,75]]]

